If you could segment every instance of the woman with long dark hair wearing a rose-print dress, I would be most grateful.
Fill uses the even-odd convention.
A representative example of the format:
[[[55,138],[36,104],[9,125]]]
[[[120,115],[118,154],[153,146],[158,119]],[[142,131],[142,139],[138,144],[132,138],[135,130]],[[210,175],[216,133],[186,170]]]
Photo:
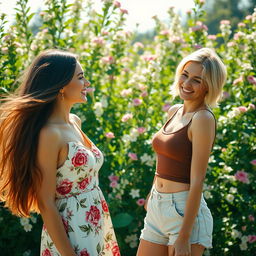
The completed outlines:
[[[103,155],[70,113],[87,101],[74,54],[47,50],[0,106],[0,198],[17,216],[41,214],[41,255],[120,255],[98,186]]]

